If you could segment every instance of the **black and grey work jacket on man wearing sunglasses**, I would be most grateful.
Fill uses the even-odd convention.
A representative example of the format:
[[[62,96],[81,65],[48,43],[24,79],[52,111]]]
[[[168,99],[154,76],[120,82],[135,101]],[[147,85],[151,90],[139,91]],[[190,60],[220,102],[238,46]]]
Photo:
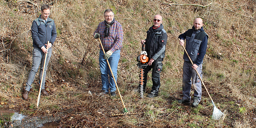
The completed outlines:
[[[153,29],[154,25],[147,31],[147,38],[145,43],[145,51],[148,54],[148,58],[162,59],[164,58],[167,34],[164,30],[164,26],[161,24],[159,28]]]

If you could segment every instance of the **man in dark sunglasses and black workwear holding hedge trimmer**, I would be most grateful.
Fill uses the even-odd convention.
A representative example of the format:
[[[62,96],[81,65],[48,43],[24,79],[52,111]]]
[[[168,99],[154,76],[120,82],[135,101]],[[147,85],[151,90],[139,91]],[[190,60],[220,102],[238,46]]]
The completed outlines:
[[[163,18],[161,15],[157,14],[153,19],[154,25],[150,27],[147,31],[147,38],[141,40],[141,44],[145,43],[145,50],[148,54],[148,66],[144,69],[144,84],[143,90],[145,90],[147,85],[148,71],[152,68],[152,90],[148,94],[149,98],[158,96],[158,91],[160,88],[160,72],[163,68],[163,59],[167,42],[167,34],[162,25]]]

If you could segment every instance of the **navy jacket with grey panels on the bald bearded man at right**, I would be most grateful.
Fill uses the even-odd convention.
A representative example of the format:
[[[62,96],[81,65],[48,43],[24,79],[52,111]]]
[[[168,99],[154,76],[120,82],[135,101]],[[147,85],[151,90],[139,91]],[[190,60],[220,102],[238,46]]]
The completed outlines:
[[[192,29],[188,29],[185,33],[180,34],[179,38],[181,40],[186,39],[186,50],[193,63],[197,66],[203,63],[208,43],[208,35],[204,32],[204,28],[202,27],[200,30],[196,31],[193,26]],[[185,52],[183,59],[190,62]]]

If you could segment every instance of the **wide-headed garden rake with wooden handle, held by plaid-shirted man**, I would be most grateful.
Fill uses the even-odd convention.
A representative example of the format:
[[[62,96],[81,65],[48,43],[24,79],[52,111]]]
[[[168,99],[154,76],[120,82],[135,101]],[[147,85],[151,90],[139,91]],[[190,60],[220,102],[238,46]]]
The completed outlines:
[[[100,38],[99,38],[99,41],[100,41]],[[101,46],[101,48],[102,48],[103,53],[105,54],[105,51],[104,51],[104,48],[103,48],[103,45],[102,45],[101,41],[100,41],[100,46]],[[108,60],[107,60],[107,63],[108,63],[109,70],[110,70],[110,72],[111,72],[111,74],[112,74],[112,76],[113,76],[114,82],[115,82],[115,84],[116,84],[117,92],[118,92],[118,94],[119,94],[119,96],[120,96],[120,99],[121,99],[121,101],[122,101],[122,104],[123,104],[123,106],[124,106],[124,101],[123,101],[122,96],[121,96],[121,94],[120,94],[120,92],[119,92],[119,89],[118,89],[118,86],[117,86],[117,83],[116,83],[116,79],[115,79],[115,77],[114,77],[114,74],[113,74],[113,72],[112,72],[112,69],[111,69],[111,67],[110,67],[110,65],[109,65]],[[124,113],[112,114],[111,116],[131,115],[131,114],[140,114],[140,113],[128,112],[127,109],[126,109],[125,106],[124,106]]]

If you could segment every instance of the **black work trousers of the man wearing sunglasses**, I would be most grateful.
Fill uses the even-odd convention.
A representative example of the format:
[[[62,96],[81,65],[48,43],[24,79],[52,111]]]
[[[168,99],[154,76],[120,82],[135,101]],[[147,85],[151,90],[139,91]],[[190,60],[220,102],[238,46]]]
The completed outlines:
[[[159,88],[160,88],[160,72],[162,72],[162,63],[163,59],[156,59],[150,66],[147,66],[144,68],[144,84],[143,84],[143,90],[145,90],[147,85],[147,77],[148,77],[148,71],[152,69],[152,94],[158,94]]]

